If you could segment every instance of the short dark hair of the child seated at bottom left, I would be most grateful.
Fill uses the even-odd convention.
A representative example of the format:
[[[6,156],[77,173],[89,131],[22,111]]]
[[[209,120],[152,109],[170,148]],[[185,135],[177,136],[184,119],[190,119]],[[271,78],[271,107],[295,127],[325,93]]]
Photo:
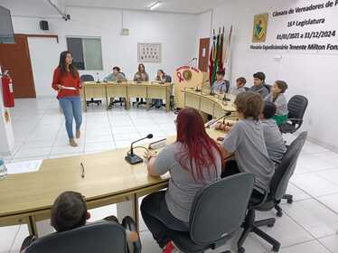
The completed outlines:
[[[52,205],[51,224],[58,232],[86,224],[87,204],[79,192],[63,192]]]

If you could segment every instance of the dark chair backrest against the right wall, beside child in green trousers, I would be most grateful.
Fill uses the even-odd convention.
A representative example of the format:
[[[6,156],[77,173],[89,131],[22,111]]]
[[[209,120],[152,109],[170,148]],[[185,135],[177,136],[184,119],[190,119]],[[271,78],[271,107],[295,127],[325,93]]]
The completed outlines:
[[[294,124],[301,125],[303,123],[303,117],[307,108],[308,100],[304,96],[296,95],[287,103],[288,118],[299,118],[299,120],[291,120]]]

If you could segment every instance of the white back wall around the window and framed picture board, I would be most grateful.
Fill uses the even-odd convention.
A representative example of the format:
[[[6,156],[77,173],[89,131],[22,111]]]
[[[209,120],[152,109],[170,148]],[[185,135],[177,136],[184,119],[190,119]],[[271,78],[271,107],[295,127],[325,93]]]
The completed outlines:
[[[14,33],[57,34],[60,38],[60,43],[56,47],[58,53],[66,50],[66,36],[100,37],[104,68],[103,71],[99,71],[101,80],[116,65],[122,68],[127,78],[132,79],[138,65],[137,42],[162,43],[162,62],[145,64],[151,79],[155,79],[156,70],[164,69],[168,74],[173,74],[176,67],[196,56],[198,15],[124,11],[124,27],[130,29],[130,35],[121,36],[122,19],[119,10],[69,7],[67,13],[71,15],[69,22],[55,18],[46,19],[50,25],[50,31],[47,33],[39,29],[40,18],[14,16]],[[49,49],[49,46],[34,47],[34,51],[40,50],[41,52],[31,53],[33,55],[45,54],[46,61],[52,61],[53,57],[48,55]],[[46,63],[54,67],[57,64],[58,61]],[[34,65],[36,66],[33,62]],[[39,69],[39,66],[35,68],[35,70]],[[50,71],[52,72],[52,69]],[[97,71],[81,72],[92,73],[96,77]],[[34,71],[35,80],[41,80],[38,77],[39,74]],[[37,94],[54,95],[52,89],[50,94],[46,94],[47,89],[41,89],[43,85],[50,86],[51,82],[36,85]]]

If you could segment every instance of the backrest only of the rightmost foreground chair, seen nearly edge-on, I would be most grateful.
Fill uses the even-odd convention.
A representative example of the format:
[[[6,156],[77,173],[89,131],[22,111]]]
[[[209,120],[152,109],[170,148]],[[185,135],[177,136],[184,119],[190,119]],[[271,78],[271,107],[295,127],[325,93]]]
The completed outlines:
[[[270,184],[271,199],[279,201],[286,193],[288,182],[295,172],[298,156],[302,151],[307,137],[307,132],[301,133],[287,147],[286,154],[283,156],[281,163],[277,166]]]

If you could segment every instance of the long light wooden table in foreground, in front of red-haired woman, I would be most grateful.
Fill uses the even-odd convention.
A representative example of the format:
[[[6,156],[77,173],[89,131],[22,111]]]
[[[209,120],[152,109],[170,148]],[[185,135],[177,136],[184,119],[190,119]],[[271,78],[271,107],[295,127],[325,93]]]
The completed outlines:
[[[224,136],[221,131],[207,131],[214,139]],[[171,136],[167,143],[174,140]],[[0,181],[0,226],[27,224],[30,234],[38,236],[36,222],[50,219],[52,203],[64,191],[81,192],[89,209],[117,203],[117,215],[130,215],[138,225],[138,198],[166,188],[168,177],[149,176],[145,163],[127,164],[127,150],[48,159],[36,173],[8,175]],[[143,149],[135,151],[144,154]]]

